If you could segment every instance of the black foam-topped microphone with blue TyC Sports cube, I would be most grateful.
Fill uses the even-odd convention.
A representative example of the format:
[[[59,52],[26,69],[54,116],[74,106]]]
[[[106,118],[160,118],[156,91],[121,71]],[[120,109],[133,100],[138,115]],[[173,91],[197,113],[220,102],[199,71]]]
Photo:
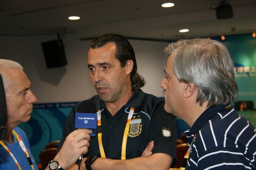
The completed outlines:
[[[92,101],[82,101],[77,106],[77,112],[75,113],[75,129],[86,128],[91,129],[93,132],[90,136],[96,135],[97,130],[97,114],[96,106]],[[79,163],[81,162],[83,155],[79,157]]]

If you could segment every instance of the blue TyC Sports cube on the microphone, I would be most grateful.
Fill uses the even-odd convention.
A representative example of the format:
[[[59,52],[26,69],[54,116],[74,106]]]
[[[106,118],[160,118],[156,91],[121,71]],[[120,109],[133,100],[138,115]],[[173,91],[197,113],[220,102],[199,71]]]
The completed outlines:
[[[97,114],[75,113],[75,129],[78,128],[91,129],[93,133],[90,135],[95,136],[97,131]]]

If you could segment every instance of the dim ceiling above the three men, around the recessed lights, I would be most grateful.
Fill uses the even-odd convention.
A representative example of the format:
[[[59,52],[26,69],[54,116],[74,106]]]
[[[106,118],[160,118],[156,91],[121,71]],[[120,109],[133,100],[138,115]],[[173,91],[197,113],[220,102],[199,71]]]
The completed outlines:
[[[256,31],[256,0],[227,0],[233,18],[217,19],[210,6],[220,1],[224,0],[0,0],[0,35],[75,32],[80,39],[90,39],[108,32],[173,40]],[[175,6],[162,8],[164,2]],[[81,19],[68,20],[72,15]],[[178,32],[184,28],[190,32]]]

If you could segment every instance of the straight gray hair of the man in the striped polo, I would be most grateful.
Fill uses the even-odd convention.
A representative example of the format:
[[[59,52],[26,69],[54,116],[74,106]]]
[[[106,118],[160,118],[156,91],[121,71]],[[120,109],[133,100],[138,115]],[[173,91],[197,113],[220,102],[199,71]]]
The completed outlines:
[[[194,83],[199,89],[197,102],[228,105],[236,101],[238,86],[233,61],[227,48],[212,39],[188,39],[165,47],[165,63],[172,54],[172,67],[178,80]]]

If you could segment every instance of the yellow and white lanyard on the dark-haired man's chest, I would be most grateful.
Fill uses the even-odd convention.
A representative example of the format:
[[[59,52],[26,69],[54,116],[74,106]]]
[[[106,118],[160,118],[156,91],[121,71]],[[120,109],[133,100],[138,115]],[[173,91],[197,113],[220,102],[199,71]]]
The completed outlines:
[[[130,109],[129,115],[127,117],[124,133],[123,133],[123,141],[122,141],[122,152],[121,152],[121,160],[126,159],[126,143],[127,143],[127,137],[130,129],[131,119],[133,117],[135,108],[132,107]],[[105,152],[102,144],[102,131],[101,131],[101,110],[98,109],[97,111],[97,131],[98,131],[98,142],[99,142],[99,151],[101,158],[105,158]]]

